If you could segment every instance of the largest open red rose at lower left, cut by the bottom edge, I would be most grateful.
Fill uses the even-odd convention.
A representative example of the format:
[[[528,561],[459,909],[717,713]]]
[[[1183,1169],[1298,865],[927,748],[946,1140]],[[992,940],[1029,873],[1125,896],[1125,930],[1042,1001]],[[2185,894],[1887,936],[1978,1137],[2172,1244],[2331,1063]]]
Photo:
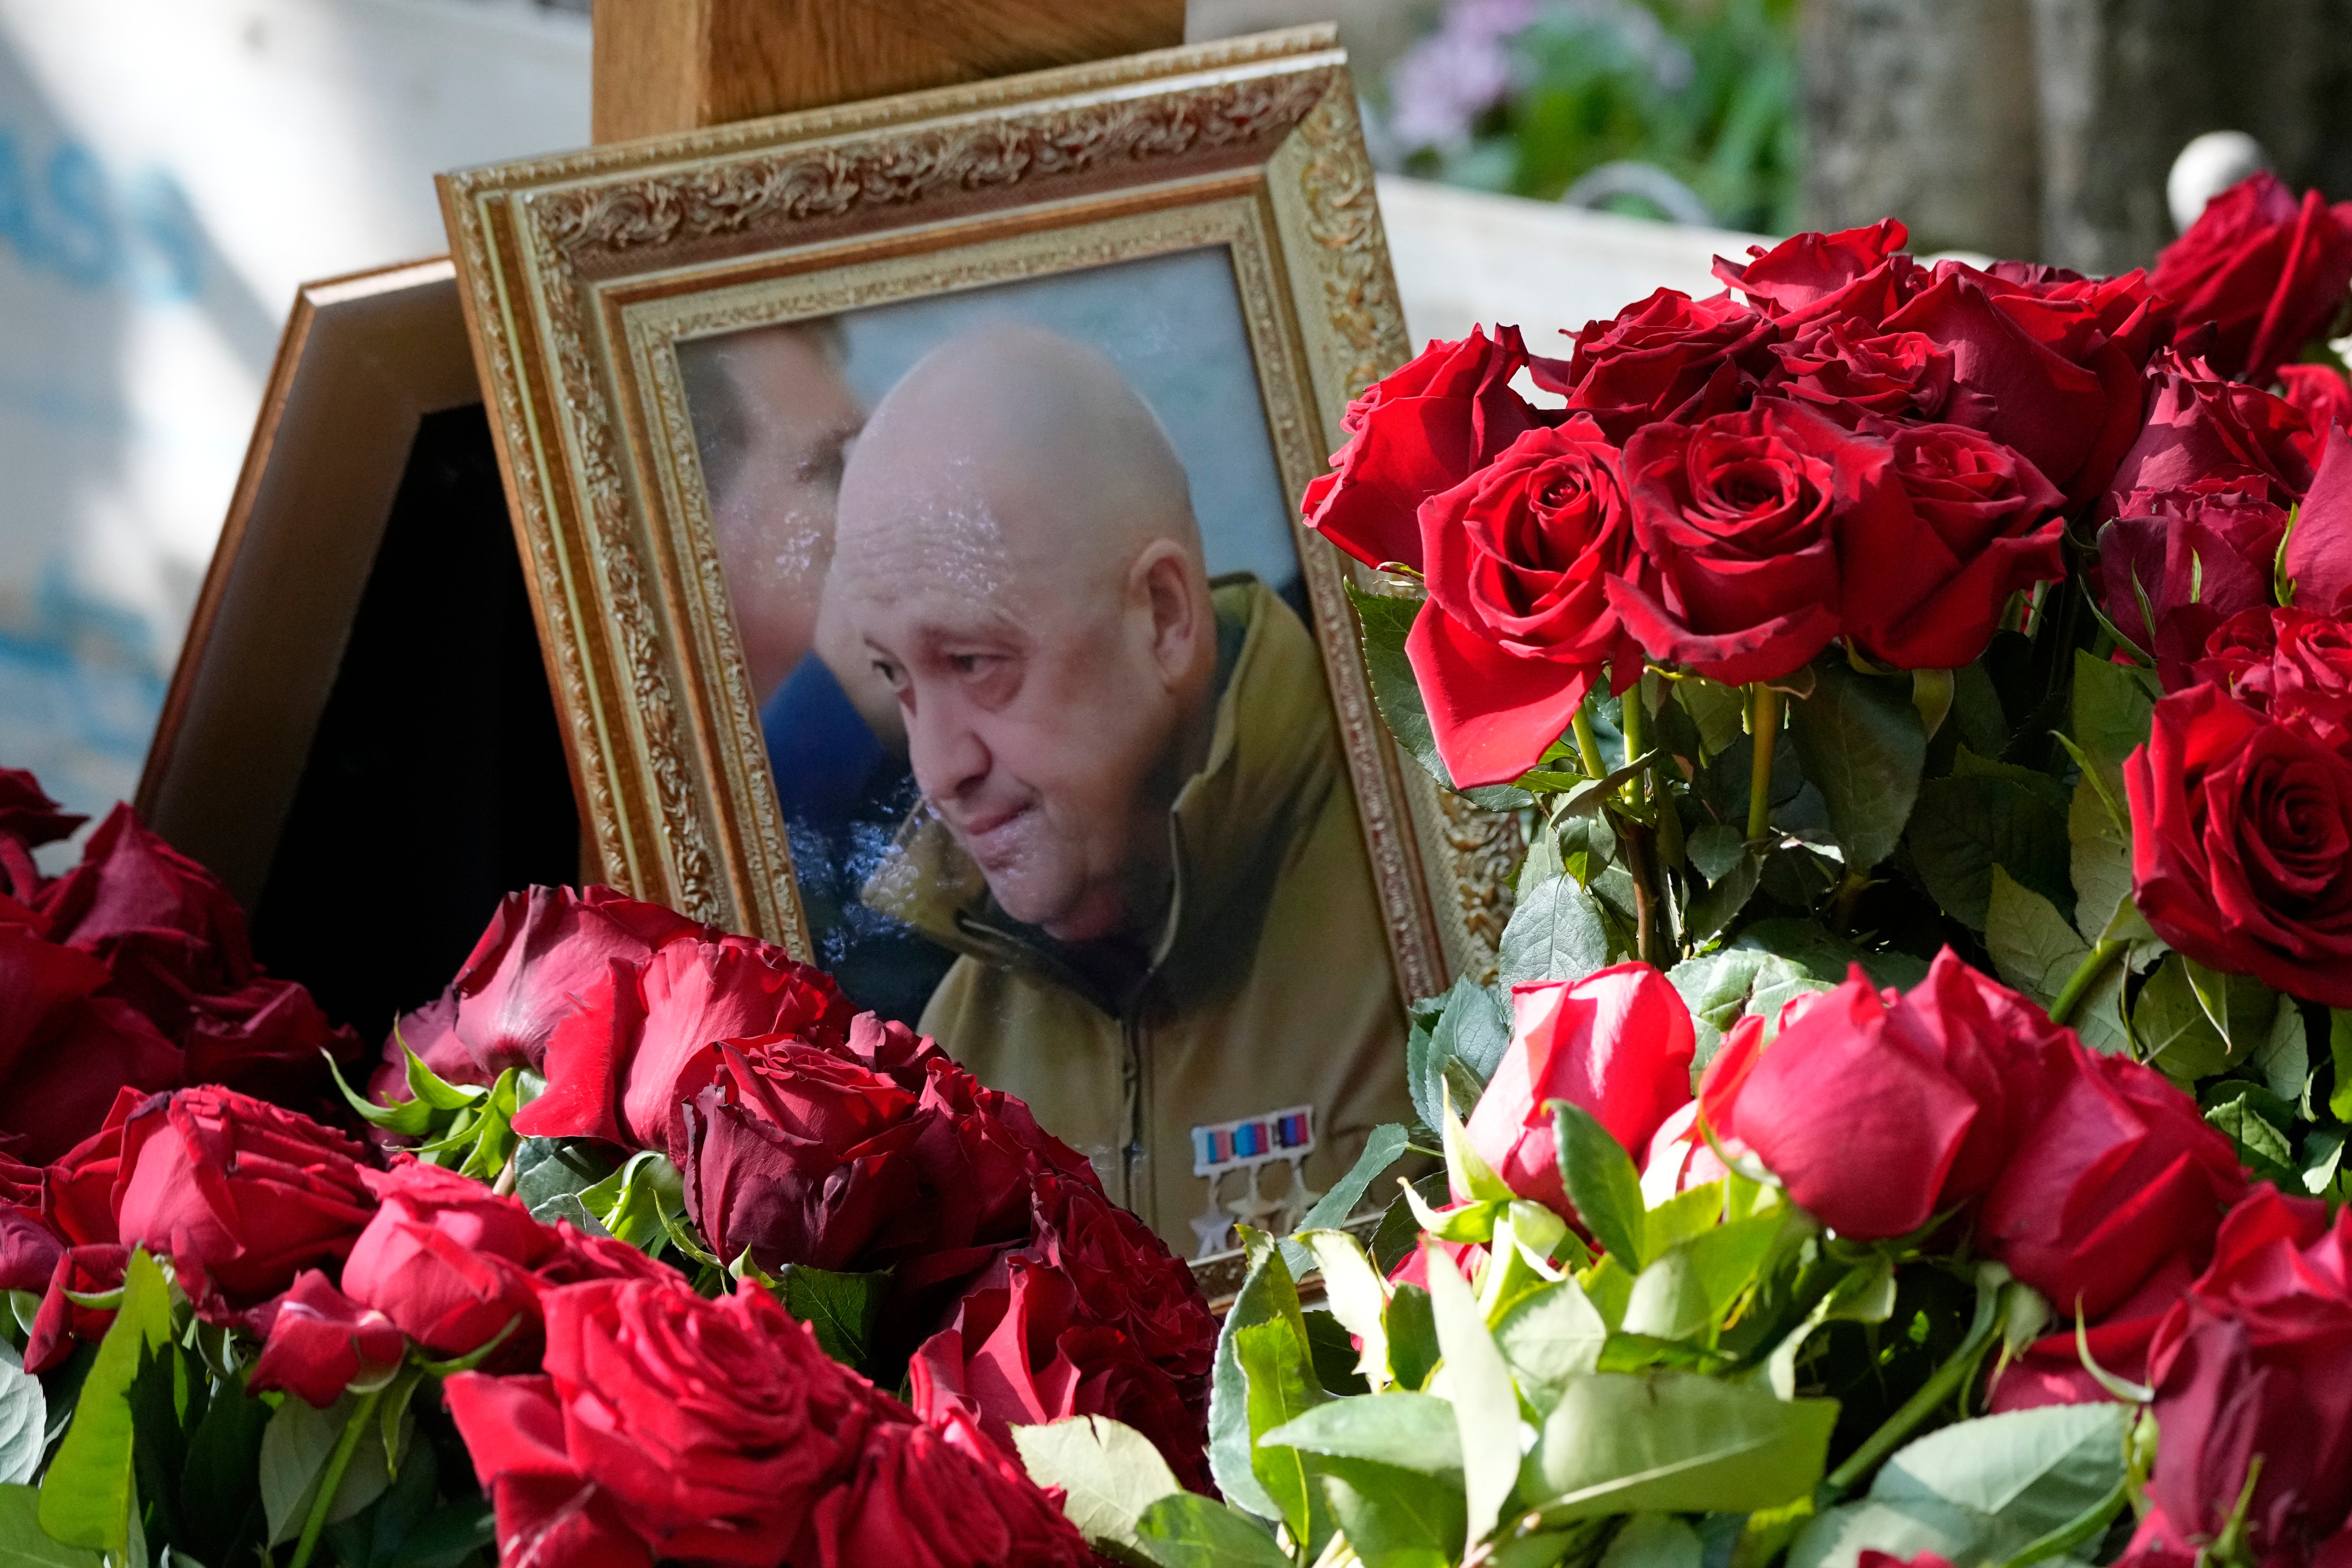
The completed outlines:
[[[447,1382],[501,1563],[767,1568],[891,1420],[760,1288],[593,1281],[543,1307],[546,1375]]]

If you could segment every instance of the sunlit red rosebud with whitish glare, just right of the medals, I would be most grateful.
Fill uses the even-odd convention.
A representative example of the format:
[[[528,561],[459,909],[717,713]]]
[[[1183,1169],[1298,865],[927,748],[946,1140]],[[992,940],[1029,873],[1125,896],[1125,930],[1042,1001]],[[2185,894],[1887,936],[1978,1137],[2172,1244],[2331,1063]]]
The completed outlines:
[[[1515,985],[1510,1048],[1470,1112],[1470,1147],[1512,1192],[1569,1215],[1548,1103],[1592,1112],[1642,1159],[1658,1124],[1691,1098],[1696,1044],[1689,1006],[1649,964]]]

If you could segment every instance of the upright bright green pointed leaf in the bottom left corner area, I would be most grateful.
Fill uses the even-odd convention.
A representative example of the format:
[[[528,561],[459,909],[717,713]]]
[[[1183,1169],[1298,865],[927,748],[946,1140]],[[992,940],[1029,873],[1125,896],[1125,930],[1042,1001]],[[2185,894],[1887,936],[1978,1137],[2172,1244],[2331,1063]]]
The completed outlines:
[[[40,1528],[68,1547],[125,1552],[132,1537],[132,1382],[169,1354],[172,1286],[146,1248],[122,1269],[122,1307],[99,1340],[73,1425],[40,1483]],[[294,1401],[301,1403],[301,1401]]]

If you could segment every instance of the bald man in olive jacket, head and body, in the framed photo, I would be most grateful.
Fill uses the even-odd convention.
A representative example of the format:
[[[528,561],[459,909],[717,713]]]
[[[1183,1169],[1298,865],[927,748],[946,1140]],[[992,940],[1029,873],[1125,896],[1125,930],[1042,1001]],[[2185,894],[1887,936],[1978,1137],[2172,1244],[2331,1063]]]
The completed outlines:
[[[1211,578],[1101,353],[993,322],[849,449],[821,621],[887,682],[920,804],[866,886],[960,957],[920,1027],[1190,1253],[1192,1128],[1312,1105],[1310,1187],[1409,1119],[1404,1011],[1322,654]]]

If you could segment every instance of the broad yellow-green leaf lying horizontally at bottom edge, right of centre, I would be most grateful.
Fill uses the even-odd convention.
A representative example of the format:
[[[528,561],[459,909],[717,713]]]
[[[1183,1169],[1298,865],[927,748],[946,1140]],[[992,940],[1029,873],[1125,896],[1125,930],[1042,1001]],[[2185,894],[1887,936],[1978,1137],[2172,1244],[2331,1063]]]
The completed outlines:
[[[1592,1373],[1569,1385],[1526,1455],[1545,1523],[1637,1512],[1748,1514],[1820,1483],[1835,1399],[1776,1399],[1698,1373]]]

